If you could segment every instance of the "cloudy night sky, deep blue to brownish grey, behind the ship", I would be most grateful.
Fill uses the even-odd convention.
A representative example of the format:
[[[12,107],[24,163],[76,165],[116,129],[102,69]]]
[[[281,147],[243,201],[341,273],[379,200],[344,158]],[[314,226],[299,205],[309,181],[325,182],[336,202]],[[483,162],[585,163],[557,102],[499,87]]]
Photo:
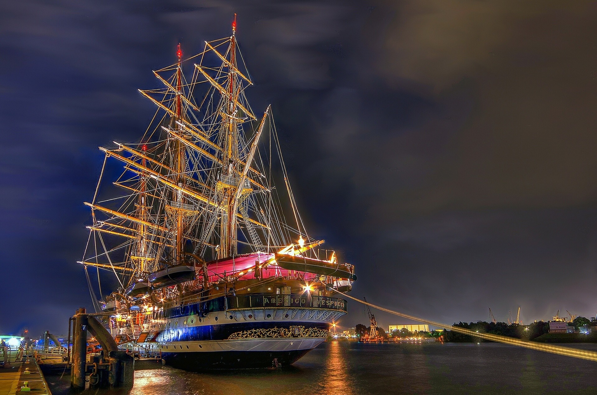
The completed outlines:
[[[248,99],[352,296],[447,323],[596,315],[596,2],[20,0],[0,3],[0,333],[91,308],[97,147],[138,140],[137,88],[233,13]],[[341,326],[367,322],[349,306]]]

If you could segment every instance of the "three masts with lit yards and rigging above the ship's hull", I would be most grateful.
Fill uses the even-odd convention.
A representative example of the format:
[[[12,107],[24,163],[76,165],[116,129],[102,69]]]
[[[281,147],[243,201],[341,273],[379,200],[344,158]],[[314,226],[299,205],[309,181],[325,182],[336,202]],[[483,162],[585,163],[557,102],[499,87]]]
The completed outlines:
[[[184,262],[187,242],[194,245],[196,257],[201,257],[196,259],[211,260],[235,256],[244,238],[248,245],[259,248],[263,241],[258,231],[267,229],[281,240],[287,238],[285,228],[275,222],[283,213],[276,212],[276,208],[276,220],[270,223],[272,214],[269,209],[267,214],[264,211],[266,205],[269,207],[266,200],[272,198],[267,194],[271,186],[261,169],[257,146],[266,134],[269,107],[260,119],[250,110],[245,88],[253,82],[246,68],[238,69],[237,51],[235,14],[232,35],[205,42],[201,62],[194,64],[189,85],[182,71],[179,43],[174,65],[153,71],[164,88],[139,90],[159,111],[165,111],[165,123],[152,120],[155,128],[148,128],[140,144],[115,142],[117,148],[100,147],[106,158],[124,164],[124,173],[115,184],[134,195],[121,197],[124,203],[119,207],[86,203],[108,219],[96,220],[90,227],[98,235],[101,248],[88,251],[86,256],[91,257],[82,262],[109,263],[101,268],[112,268],[110,254],[118,256],[117,250],[125,250],[125,262],[119,259],[115,268],[132,268],[127,279],[131,284],[139,278],[147,279],[149,273],[164,265]],[[211,67],[210,63],[204,66],[203,55],[208,52],[219,58],[220,67]],[[165,71],[169,71],[168,76]],[[211,88],[203,101],[196,101],[193,87],[199,82],[196,77],[201,76],[201,82],[208,82]],[[214,93],[219,96],[216,101]],[[193,111],[202,113],[202,119]],[[243,125],[247,120],[256,123]],[[247,133],[248,129],[254,134]],[[160,134],[162,131],[167,134]],[[253,193],[256,191],[264,193]],[[110,243],[110,249],[101,234],[124,241]],[[207,252],[207,248],[214,250]]]

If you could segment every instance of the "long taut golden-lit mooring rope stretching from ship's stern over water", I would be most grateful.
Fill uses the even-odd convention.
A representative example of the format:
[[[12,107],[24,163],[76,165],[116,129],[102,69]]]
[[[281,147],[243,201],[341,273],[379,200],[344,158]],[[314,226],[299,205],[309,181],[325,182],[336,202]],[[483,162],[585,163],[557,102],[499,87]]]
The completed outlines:
[[[525,349],[543,351],[546,353],[565,355],[568,357],[592,360],[592,361],[597,362],[597,352],[594,352],[594,351],[578,350],[578,349],[572,349],[570,347],[562,347],[562,346],[552,346],[551,344],[541,344],[541,343],[535,343],[533,341],[519,340],[519,339],[512,338],[512,337],[493,335],[493,334],[489,334],[489,333],[475,332],[475,331],[471,331],[470,329],[460,328],[458,326],[441,324],[441,322],[429,321],[427,319],[411,316],[411,315],[404,314],[404,313],[395,312],[394,310],[386,309],[384,307],[377,306],[376,304],[369,303],[364,300],[359,300],[355,297],[341,293],[340,291],[334,290],[334,288],[329,288],[329,289],[334,292],[337,292],[338,294],[346,296],[347,298],[358,301],[359,303],[362,303],[362,304],[367,304],[367,306],[374,307],[375,309],[384,311],[386,313],[397,315],[397,316],[400,316],[403,318],[412,319],[413,321],[424,322],[425,324],[437,326],[438,328],[445,328],[445,329],[449,328],[451,331],[460,332],[461,334],[464,334],[464,335],[480,337],[480,338],[491,340],[491,341],[497,341],[498,343],[512,344],[513,346],[525,347]]]

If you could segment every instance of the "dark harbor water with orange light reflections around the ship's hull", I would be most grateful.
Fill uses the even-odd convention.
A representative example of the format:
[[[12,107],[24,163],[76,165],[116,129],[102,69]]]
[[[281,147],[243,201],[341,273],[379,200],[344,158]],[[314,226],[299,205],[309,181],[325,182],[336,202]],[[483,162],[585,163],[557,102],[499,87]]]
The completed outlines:
[[[570,347],[597,350],[597,344]],[[497,343],[332,341],[282,369],[193,373],[156,363],[135,372],[130,394],[587,394],[597,393],[595,368],[595,362]],[[69,393],[66,375],[47,381],[54,395]]]

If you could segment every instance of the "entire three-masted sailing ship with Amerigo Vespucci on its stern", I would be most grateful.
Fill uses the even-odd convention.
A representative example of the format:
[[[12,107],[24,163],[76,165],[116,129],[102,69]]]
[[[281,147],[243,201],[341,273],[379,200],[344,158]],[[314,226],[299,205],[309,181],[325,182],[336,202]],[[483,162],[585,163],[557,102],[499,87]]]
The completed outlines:
[[[354,267],[304,228],[272,111],[254,115],[245,96],[236,15],[231,36],[176,55],[139,91],[157,107],[143,137],[100,147],[79,262],[96,311],[117,343],[178,368],[289,365],[346,314],[333,290],[350,291]],[[124,165],[115,187],[108,158]]]

